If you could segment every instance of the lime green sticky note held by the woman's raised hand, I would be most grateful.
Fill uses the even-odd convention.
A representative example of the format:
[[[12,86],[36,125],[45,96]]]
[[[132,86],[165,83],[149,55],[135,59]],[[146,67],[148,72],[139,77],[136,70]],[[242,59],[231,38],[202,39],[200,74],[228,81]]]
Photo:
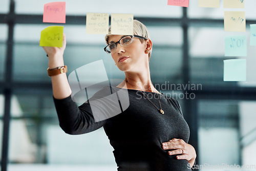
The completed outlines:
[[[63,26],[50,26],[41,31],[40,46],[62,47]]]

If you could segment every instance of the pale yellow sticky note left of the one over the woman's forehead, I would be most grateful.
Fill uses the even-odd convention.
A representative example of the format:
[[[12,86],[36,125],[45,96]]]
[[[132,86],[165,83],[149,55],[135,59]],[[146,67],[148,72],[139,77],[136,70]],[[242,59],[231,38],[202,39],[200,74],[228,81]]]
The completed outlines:
[[[87,34],[109,34],[109,14],[87,13]]]

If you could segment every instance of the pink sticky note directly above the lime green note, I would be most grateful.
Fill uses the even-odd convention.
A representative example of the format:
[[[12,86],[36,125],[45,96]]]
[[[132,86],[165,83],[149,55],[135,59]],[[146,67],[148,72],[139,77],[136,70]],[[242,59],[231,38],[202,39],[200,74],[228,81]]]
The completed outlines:
[[[45,4],[42,22],[66,23],[66,2],[54,2]]]

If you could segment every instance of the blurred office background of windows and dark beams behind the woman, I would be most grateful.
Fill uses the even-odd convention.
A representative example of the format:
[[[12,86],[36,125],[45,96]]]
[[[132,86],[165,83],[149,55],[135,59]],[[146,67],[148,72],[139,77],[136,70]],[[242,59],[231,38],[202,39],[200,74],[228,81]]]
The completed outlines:
[[[123,79],[103,51],[104,35],[86,34],[87,12],[131,13],[147,26],[153,41],[154,84],[201,85],[198,90],[162,91],[181,103],[197,164],[256,165],[256,52],[249,46],[249,25],[256,24],[255,1],[246,1],[245,9],[223,9],[222,0],[220,8],[199,8],[197,0],[191,0],[188,8],[167,6],[167,0],[67,0],[66,24],[42,23],[44,4],[56,1],[0,1],[3,171],[116,170],[113,148],[103,129],[80,136],[60,129],[47,75],[48,58],[39,47],[41,30],[64,26],[68,74],[102,59],[109,79]],[[246,32],[224,31],[226,10],[245,11]],[[247,60],[247,81],[224,82],[223,60],[240,58],[224,56],[224,37],[239,34],[248,40],[248,55],[241,57]],[[195,98],[185,98],[185,93]]]

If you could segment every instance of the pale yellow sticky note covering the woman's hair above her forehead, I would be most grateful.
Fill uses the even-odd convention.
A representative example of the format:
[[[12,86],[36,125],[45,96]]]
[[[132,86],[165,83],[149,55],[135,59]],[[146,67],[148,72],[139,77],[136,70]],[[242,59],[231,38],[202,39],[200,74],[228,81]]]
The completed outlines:
[[[133,14],[111,14],[111,34],[133,35]]]

